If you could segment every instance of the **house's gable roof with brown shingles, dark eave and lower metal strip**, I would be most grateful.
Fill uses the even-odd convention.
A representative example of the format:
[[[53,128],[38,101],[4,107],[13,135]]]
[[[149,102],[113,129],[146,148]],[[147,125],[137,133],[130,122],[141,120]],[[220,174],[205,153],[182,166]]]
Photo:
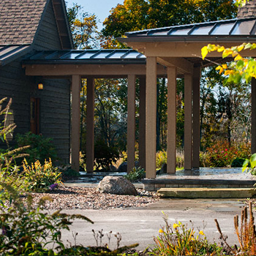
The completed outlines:
[[[73,49],[64,0],[4,0],[0,1],[0,65],[34,49],[49,4],[53,6],[61,47]]]

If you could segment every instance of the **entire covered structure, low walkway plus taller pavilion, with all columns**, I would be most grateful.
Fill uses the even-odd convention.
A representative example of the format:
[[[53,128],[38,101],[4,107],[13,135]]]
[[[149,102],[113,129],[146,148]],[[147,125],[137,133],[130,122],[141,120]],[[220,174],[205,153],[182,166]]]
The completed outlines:
[[[200,73],[221,53],[201,59],[208,43],[230,47],[256,42],[256,18],[220,20],[162,29],[129,32],[120,39],[134,50],[41,51],[23,62],[26,75],[72,80],[72,167],[79,169],[80,83],[87,78],[87,171],[94,163],[94,79],[128,78],[128,171],[135,165],[135,80],[140,78],[140,165],[146,178],[156,177],[157,77],[167,78],[167,173],[176,172],[176,78],[184,77],[186,170],[199,168]],[[138,50],[135,51],[135,50]],[[143,55],[141,54],[143,53]],[[243,56],[256,56],[246,50]],[[252,152],[256,152],[256,84],[252,83]]]

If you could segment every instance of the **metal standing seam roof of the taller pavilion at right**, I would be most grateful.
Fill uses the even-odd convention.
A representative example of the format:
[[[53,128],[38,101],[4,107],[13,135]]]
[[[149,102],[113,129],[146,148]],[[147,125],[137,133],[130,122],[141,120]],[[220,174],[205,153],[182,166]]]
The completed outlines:
[[[195,23],[181,26],[170,26],[159,29],[147,29],[143,31],[127,32],[127,38],[120,39],[122,42],[128,42],[129,39],[173,39],[178,41],[179,38],[191,40],[209,39],[209,37],[226,38],[226,41],[233,41],[234,38],[244,40],[244,37],[256,39],[256,18],[244,18],[233,20],[218,20],[206,23]]]

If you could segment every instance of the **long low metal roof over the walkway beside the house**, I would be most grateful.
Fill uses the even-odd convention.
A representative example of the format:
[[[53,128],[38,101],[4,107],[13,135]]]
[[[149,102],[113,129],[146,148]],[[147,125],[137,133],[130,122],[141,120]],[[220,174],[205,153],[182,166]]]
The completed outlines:
[[[136,50],[42,50],[23,59],[23,64],[144,64]]]

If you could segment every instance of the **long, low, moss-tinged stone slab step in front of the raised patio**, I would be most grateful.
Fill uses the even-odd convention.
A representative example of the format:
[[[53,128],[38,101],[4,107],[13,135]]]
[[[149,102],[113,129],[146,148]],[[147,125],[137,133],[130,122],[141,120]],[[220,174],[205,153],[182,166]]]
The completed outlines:
[[[157,193],[160,197],[176,198],[250,198],[256,195],[256,190],[249,188],[162,188]]]

